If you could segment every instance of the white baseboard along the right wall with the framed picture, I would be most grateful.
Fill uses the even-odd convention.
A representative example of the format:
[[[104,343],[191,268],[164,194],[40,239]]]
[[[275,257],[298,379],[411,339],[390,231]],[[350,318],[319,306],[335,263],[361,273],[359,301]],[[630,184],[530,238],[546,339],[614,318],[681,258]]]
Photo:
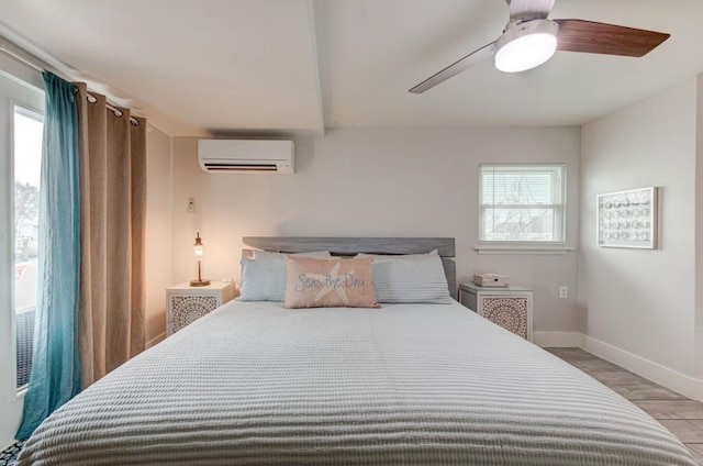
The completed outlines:
[[[646,379],[669,388],[688,398],[703,401],[703,380],[665,367],[641,356],[621,350],[609,343],[580,334],[582,347],[589,353],[631,370]]]

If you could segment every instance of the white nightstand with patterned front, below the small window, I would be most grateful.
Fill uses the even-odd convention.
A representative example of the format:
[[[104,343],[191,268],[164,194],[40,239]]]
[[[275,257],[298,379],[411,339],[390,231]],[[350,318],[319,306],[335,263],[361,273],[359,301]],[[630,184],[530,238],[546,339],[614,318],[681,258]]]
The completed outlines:
[[[532,290],[459,286],[459,302],[491,322],[532,341]]]

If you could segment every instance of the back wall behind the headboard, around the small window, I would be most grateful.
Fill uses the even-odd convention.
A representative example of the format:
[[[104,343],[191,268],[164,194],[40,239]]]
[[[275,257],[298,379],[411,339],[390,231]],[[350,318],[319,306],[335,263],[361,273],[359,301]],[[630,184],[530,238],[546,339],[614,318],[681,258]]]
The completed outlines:
[[[578,242],[578,127],[330,130],[295,140],[295,175],[209,175],[197,140],[175,140],[174,281],[196,276],[205,244],[209,278],[239,277],[242,236],[451,236],[459,280],[510,275],[534,287],[537,331],[576,330],[577,254],[477,255],[478,165],[560,162],[568,169],[569,245]],[[187,213],[188,198],[197,200]],[[567,285],[571,298],[558,299]]]

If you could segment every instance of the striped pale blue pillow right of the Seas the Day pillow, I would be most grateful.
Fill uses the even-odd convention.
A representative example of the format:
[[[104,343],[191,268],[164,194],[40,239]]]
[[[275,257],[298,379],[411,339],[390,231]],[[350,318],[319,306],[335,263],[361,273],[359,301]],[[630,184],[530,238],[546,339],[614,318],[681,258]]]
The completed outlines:
[[[449,285],[436,254],[373,256],[373,286],[378,302],[449,304]]]

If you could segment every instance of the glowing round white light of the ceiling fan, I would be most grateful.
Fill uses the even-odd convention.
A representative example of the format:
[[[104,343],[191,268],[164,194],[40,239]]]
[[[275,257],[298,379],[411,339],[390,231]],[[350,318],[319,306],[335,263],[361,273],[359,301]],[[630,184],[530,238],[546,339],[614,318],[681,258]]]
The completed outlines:
[[[558,31],[559,24],[550,20],[509,25],[495,44],[495,67],[520,73],[542,65],[557,52]]]

